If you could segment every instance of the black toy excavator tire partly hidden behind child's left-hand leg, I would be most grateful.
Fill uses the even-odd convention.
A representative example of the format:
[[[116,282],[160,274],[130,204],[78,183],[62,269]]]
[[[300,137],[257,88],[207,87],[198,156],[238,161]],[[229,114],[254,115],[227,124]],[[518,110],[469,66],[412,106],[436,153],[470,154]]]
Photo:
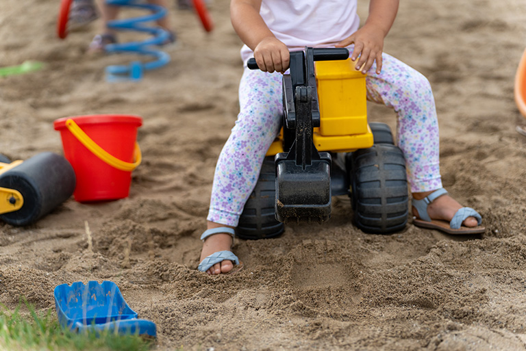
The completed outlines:
[[[274,157],[265,157],[252,194],[239,218],[236,235],[241,239],[268,239],[284,232],[275,218],[276,170]]]

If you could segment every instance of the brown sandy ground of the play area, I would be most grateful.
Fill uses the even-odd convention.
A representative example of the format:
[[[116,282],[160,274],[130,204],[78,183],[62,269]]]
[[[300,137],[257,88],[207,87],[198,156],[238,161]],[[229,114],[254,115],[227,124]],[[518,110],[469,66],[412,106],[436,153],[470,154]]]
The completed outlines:
[[[0,223],[2,304],[25,296],[54,313],[56,285],[110,280],[157,324],[159,350],[526,349],[526,138],[514,131],[526,121],[513,100],[523,0],[401,1],[386,40],[386,52],[429,77],[444,186],[481,213],[484,235],[411,223],[368,235],[341,196],[323,225],[238,240],[245,268],[233,276],[196,270],[214,165],[238,112],[240,40],[228,1],[213,1],[210,34],[174,3],[181,47],[138,83],[105,81],[105,66],[129,57],[86,55],[97,23],[59,40],[58,3],[1,0],[0,66],[47,66],[0,78],[0,153],[62,153],[57,118],[138,114],[144,161],[129,198],[71,198],[31,226]],[[371,120],[395,126],[394,112],[368,108]]]

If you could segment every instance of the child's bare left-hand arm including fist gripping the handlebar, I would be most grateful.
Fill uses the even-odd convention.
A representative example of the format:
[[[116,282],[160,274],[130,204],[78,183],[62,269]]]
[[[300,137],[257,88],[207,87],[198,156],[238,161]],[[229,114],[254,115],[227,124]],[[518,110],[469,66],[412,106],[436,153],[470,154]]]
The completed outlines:
[[[284,73],[289,65],[288,49],[268,29],[260,6],[261,0],[231,0],[230,20],[242,42],[254,51],[261,70]]]

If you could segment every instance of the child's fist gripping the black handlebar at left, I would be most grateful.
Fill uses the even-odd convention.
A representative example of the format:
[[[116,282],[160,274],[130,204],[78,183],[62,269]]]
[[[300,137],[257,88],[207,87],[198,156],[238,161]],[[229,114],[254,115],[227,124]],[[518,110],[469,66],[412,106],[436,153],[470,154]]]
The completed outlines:
[[[255,62],[260,70],[268,73],[285,73],[290,64],[290,53],[287,46],[273,36],[260,41],[254,49]]]

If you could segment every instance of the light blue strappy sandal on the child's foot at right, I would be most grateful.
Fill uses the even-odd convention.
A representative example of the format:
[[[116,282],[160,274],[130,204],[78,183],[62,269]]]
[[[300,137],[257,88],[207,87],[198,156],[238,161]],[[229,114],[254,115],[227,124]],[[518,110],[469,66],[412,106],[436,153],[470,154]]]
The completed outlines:
[[[429,214],[427,213],[427,206],[432,203],[436,198],[447,194],[447,190],[443,187],[432,192],[427,197],[422,200],[412,199],[412,205],[418,211],[418,217],[414,217],[413,224],[420,226],[426,229],[437,229],[438,231],[443,231],[447,234],[481,234],[486,231],[482,224],[482,217],[480,214],[472,209],[471,207],[462,207],[459,209],[455,216],[451,219],[451,222],[446,222],[445,220],[431,220]],[[468,217],[475,217],[477,219],[478,226],[468,227],[462,226],[462,222]]]

